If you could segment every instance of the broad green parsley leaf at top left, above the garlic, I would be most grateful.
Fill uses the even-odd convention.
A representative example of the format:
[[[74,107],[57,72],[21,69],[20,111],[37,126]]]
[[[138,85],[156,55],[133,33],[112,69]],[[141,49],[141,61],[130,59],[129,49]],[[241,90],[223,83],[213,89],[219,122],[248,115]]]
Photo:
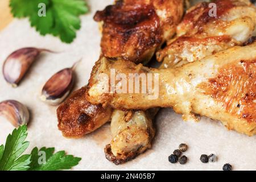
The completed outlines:
[[[39,3],[46,5],[46,16],[38,15]],[[89,10],[84,0],[11,0],[10,7],[16,18],[28,17],[41,35],[60,36],[65,43],[76,38],[81,27],[79,15]]]

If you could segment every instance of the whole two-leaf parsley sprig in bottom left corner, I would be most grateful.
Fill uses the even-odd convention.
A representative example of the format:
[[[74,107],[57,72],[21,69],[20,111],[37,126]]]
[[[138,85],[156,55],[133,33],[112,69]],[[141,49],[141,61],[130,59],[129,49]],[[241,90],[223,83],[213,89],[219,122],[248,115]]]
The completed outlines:
[[[0,146],[0,171],[57,171],[71,169],[81,158],[65,155],[65,151],[54,154],[55,148],[35,147],[31,154],[22,155],[27,149],[27,126],[20,126],[9,134],[5,146]],[[44,154],[44,160],[40,160]]]

